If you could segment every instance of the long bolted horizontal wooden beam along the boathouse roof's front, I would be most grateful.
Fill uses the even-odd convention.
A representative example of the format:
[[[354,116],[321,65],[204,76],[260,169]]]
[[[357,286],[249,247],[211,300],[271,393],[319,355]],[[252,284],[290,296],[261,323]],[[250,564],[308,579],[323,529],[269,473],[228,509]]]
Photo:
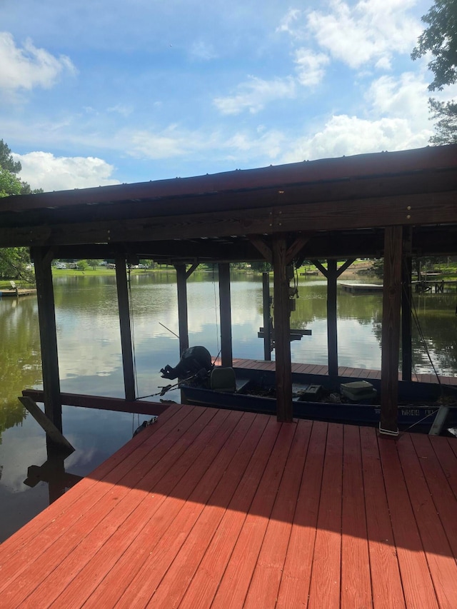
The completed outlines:
[[[457,191],[423,193],[324,203],[296,203],[293,193],[283,193],[290,204],[181,216],[134,218],[1,228],[0,246],[51,246],[76,243],[124,243],[199,237],[229,237],[306,231],[341,231],[353,228],[446,224],[457,222]]]

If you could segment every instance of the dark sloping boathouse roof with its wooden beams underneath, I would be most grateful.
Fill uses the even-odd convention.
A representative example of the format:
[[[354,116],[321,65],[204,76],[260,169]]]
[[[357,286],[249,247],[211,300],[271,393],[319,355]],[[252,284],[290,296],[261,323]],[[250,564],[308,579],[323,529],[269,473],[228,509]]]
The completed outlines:
[[[383,227],[403,225],[413,253],[455,253],[456,191],[450,145],[9,196],[0,199],[0,247],[246,261],[264,258],[272,233],[301,233],[306,258],[381,256]]]

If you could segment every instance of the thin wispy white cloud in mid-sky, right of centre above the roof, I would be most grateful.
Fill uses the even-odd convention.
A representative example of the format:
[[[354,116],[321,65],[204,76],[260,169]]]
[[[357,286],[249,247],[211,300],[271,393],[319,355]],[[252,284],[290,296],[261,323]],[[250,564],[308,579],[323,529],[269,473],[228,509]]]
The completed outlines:
[[[256,114],[271,101],[293,98],[296,84],[290,76],[271,81],[251,76],[248,82],[238,85],[238,91],[233,96],[214,99],[214,104],[222,114],[240,114],[243,110]]]

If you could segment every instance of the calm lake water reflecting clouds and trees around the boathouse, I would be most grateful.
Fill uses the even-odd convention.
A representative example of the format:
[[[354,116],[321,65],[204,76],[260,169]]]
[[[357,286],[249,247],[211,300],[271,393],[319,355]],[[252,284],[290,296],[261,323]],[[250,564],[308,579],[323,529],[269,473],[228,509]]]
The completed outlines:
[[[310,328],[312,336],[291,343],[293,362],[327,363],[326,283],[300,278],[291,327]],[[111,277],[54,278],[61,391],[123,397],[121,342],[116,283]],[[271,288],[272,293],[272,288]],[[438,373],[457,375],[456,292],[414,297],[428,351]],[[232,273],[233,356],[263,359],[261,276]],[[189,343],[220,349],[219,286],[211,272],[194,273],[188,282]],[[166,363],[179,361],[176,278],[174,273],[143,273],[131,278],[137,395],[149,396],[167,384]],[[381,293],[352,296],[338,291],[338,363],[381,368]],[[163,325],[161,325],[163,324]],[[169,330],[166,330],[166,328]],[[41,387],[38,311],[35,297],[0,299],[2,378],[0,408],[0,542],[59,495],[59,483],[32,480],[30,465],[46,462],[44,432],[17,400],[24,388]],[[273,353],[274,358],[274,353]],[[416,372],[433,372],[413,328]],[[179,392],[167,397],[179,401]],[[64,435],[76,451],[65,470],[86,475],[129,441],[148,419],[127,413],[63,407]],[[54,468],[61,468],[59,460]],[[63,471],[61,471],[63,475]],[[60,482],[63,487],[66,482]]]

